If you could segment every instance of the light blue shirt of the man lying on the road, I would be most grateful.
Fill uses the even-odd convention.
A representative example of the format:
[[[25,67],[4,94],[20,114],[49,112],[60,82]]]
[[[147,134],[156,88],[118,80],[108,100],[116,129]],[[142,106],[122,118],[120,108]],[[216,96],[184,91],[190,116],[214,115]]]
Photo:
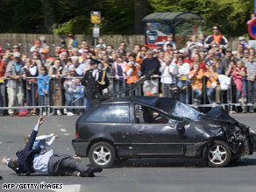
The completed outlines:
[[[52,156],[53,150],[44,153],[36,153],[33,160],[34,171],[48,174],[48,162]]]

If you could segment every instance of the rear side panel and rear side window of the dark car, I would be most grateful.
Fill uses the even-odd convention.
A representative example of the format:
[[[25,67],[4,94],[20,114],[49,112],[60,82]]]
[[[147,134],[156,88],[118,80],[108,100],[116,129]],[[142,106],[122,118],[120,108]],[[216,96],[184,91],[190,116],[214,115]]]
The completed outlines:
[[[82,138],[89,141],[95,139],[107,139],[113,142],[119,155],[127,155],[131,152],[131,110],[130,103],[103,103],[91,110],[84,119],[87,130]]]

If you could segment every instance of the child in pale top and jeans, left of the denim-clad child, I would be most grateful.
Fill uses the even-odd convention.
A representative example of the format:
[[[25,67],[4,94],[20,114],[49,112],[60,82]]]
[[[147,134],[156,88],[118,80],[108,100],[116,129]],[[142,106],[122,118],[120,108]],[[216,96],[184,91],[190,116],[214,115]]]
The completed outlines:
[[[67,79],[64,82],[65,89],[65,98],[66,98],[66,106],[72,106],[73,101],[73,91],[75,89],[75,79],[67,73]],[[67,116],[74,116],[75,114],[72,112],[72,109],[68,108]]]

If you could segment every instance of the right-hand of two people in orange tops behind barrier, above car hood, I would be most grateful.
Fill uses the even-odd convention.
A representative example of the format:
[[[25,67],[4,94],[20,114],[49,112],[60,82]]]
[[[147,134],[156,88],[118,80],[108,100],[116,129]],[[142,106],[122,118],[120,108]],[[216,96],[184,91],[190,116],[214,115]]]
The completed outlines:
[[[210,66],[208,70],[204,73],[204,76],[208,78],[206,82],[208,100],[212,104],[212,107],[216,107],[215,96],[214,96],[217,88],[216,67]]]

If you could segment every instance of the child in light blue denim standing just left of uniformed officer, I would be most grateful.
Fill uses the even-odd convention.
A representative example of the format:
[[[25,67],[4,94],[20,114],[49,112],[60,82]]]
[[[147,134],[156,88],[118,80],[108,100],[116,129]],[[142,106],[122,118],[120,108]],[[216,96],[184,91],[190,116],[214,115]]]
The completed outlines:
[[[74,95],[73,95],[74,105],[75,106],[83,106],[82,98],[83,98],[84,88],[81,85],[80,79],[78,79],[78,78],[75,79],[75,89],[73,89],[73,93],[74,93]],[[76,109],[75,114],[81,115],[82,110],[81,109]]]

